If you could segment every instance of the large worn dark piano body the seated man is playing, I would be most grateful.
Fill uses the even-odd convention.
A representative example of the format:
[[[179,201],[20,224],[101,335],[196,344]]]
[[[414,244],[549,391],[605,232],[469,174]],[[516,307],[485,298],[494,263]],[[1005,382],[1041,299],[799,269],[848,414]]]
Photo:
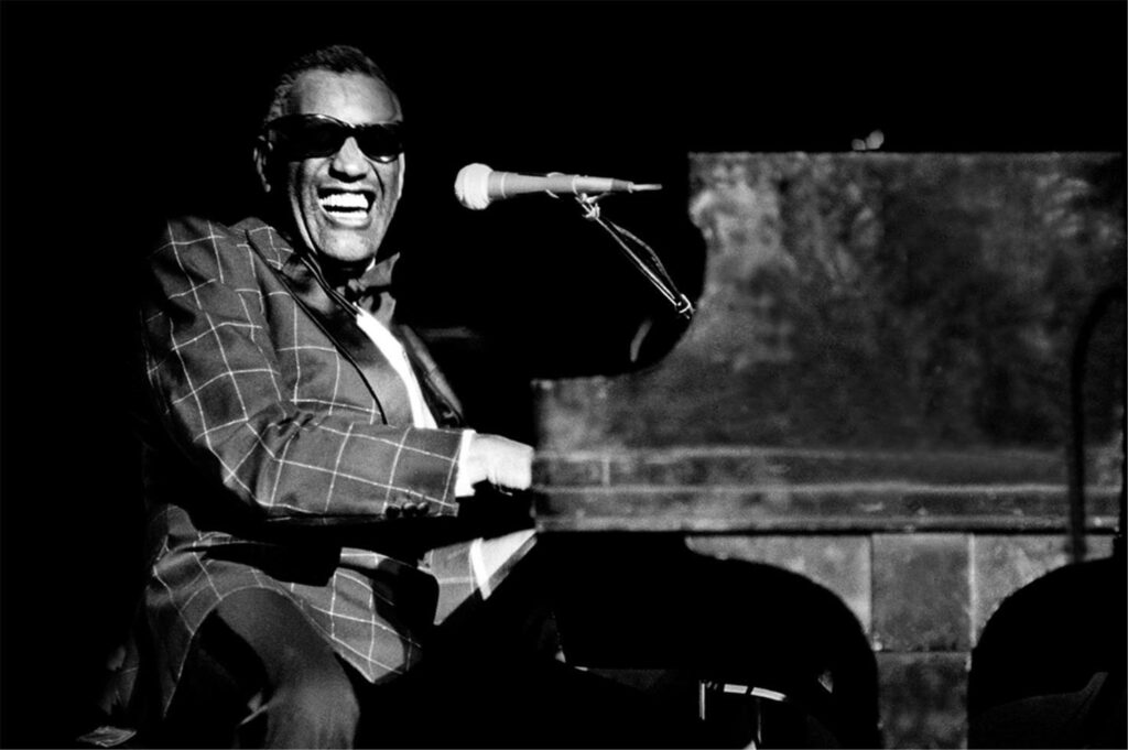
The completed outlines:
[[[1083,353],[1079,526],[1067,460],[1076,325],[1125,279],[1117,170],[1122,155],[691,155],[707,252],[688,328],[640,370],[534,385],[565,646],[594,634],[576,659],[642,682],[700,665],[685,638],[760,639],[755,659],[785,637],[757,623],[801,603],[732,565],[786,571],[864,634],[880,689],[858,700],[880,702],[885,744],[966,742],[986,619],[1108,555],[1121,513],[1122,307]],[[686,573],[706,558],[729,567]]]

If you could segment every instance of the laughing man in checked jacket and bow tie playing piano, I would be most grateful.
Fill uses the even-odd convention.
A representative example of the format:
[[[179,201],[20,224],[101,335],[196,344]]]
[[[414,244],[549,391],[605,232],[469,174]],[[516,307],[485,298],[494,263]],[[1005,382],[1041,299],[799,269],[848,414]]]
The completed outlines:
[[[536,742],[475,739],[503,720],[484,715],[483,662],[462,652],[499,638],[440,641],[457,667],[417,669],[442,522],[475,485],[527,488],[532,449],[462,427],[391,315],[382,240],[402,135],[399,100],[367,56],[306,55],[281,77],[255,152],[266,220],[174,221],[147,258],[150,570],[133,704],[151,696],[150,743]],[[531,714],[538,680],[486,685]],[[607,705],[598,688],[574,695]]]

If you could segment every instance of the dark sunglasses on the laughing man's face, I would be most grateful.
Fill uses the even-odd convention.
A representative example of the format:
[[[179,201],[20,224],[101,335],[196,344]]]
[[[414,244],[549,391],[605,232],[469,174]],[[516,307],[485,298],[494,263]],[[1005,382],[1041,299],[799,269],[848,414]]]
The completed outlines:
[[[404,152],[403,123],[353,125],[328,115],[287,115],[266,123],[264,135],[288,161],[333,156],[350,136],[364,156],[380,164]]]

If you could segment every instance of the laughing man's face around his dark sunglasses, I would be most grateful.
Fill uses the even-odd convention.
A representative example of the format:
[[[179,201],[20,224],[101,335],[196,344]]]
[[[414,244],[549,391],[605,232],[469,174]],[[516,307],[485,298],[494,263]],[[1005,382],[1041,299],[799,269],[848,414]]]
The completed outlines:
[[[362,73],[311,70],[291,92],[287,114],[321,114],[353,125],[399,122],[399,103]],[[399,200],[402,159],[369,159],[353,138],[331,156],[291,161],[285,193],[294,226],[314,250],[345,262],[376,255]]]

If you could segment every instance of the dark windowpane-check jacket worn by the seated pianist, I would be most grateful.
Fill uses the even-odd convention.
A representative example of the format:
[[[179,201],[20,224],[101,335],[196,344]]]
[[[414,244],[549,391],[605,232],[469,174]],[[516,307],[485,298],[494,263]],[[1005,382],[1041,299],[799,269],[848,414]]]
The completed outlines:
[[[241,589],[291,598],[371,681],[417,661],[433,621],[435,544],[416,531],[457,513],[457,406],[399,330],[443,425],[411,426],[402,381],[311,271],[257,219],[171,222],[144,264],[142,630],[161,711]]]

